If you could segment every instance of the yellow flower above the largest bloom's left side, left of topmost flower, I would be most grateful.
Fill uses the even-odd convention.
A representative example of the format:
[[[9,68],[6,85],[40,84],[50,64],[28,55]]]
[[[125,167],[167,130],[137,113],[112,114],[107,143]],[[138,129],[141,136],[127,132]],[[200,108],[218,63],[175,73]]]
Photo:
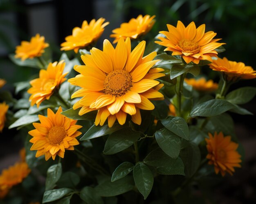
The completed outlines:
[[[72,35],[65,37],[66,42],[61,44],[61,50],[74,50],[78,52],[80,48],[86,48],[94,42],[97,42],[101,37],[104,27],[109,24],[105,22],[105,18],[99,18],[97,21],[92,19],[91,22],[83,21],[82,27],[75,27],[72,31]]]

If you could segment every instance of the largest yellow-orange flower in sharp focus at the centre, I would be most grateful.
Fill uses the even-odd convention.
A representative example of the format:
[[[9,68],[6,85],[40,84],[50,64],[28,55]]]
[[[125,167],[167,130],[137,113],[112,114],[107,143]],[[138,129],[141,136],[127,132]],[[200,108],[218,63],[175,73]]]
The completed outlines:
[[[75,66],[81,73],[68,81],[81,89],[72,94],[72,98],[83,97],[73,106],[82,107],[79,115],[98,110],[95,125],[103,125],[108,118],[112,127],[116,119],[123,125],[127,114],[134,123],[141,123],[139,109],[153,110],[154,105],[148,99],[163,99],[158,92],[163,84],[157,79],[163,77],[162,68],[152,68],[158,60],[153,60],[156,52],[143,57],[146,42],[140,42],[131,52],[130,38],[124,42],[120,38],[116,48],[105,39],[103,51],[90,50],[92,55],[82,55],[85,66]]]

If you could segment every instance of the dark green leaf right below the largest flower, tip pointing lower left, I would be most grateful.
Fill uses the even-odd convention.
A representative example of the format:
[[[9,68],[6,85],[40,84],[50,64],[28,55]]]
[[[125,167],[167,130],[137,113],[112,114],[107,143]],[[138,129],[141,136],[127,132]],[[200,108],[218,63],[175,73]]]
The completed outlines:
[[[139,132],[132,131],[130,127],[126,127],[108,136],[103,153],[116,154],[135,143],[140,137]]]

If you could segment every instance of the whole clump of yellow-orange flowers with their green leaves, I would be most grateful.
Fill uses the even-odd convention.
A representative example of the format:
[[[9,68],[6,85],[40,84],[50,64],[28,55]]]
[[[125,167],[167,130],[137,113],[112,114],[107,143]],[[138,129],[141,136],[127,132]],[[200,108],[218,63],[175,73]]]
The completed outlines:
[[[85,20],[65,38],[55,62],[39,34],[17,46],[13,63],[38,68],[39,75],[16,83],[19,100],[1,92],[9,97],[1,97],[0,131],[4,124],[18,129],[25,149],[22,162],[2,171],[0,198],[186,203],[198,197],[203,178],[241,167],[243,148],[229,112],[252,114],[239,105],[256,88],[229,88],[256,78],[256,71],[218,58],[225,43],[205,24],[167,24],[144,41],[154,18],[122,23],[112,43],[99,42],[102,49],[95,45],[109,22]],[[68,50],[74,50],[69,57]],[[219,73],[218,83],[202,75],[209,68]]]

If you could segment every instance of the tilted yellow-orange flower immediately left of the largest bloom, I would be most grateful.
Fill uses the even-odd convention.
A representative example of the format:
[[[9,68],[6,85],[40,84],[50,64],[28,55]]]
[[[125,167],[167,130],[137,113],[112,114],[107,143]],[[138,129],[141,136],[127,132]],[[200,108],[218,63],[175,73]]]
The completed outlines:
[[[29,88],[27,92],[32,94],[29,97],[31,106],[36,104],[37,107],[39,107],[40,103],[45,99],[49,100],[54,93],[54,90],[56,90],[61,83],[66,80],[64,77],[68,72],[63,74],[64,67],[64,60],[60,61],[58,64],[57,61],[50,63],[47,70],[40,70],[39,78],[30,81],[32,87]]]

